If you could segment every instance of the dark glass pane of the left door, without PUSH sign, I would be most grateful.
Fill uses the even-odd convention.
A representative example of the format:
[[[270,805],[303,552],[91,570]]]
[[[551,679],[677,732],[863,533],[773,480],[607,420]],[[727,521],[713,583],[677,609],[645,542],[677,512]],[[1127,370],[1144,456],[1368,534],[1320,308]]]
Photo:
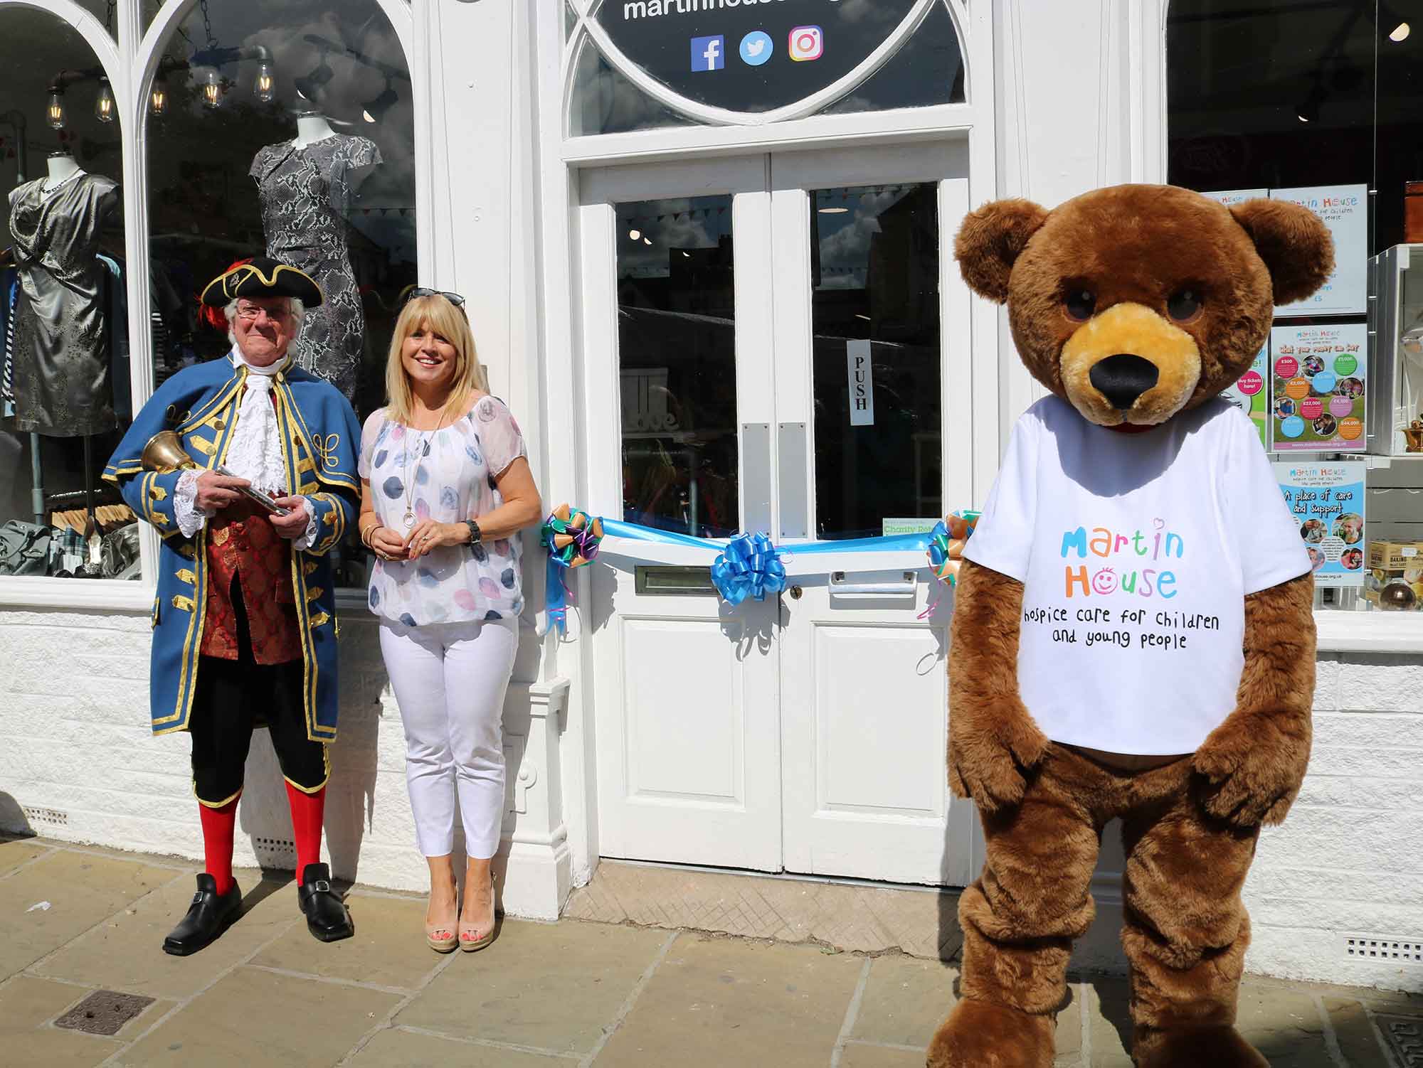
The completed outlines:
[[[623,518],[724,538],[737,495],[731,198],[618,206]]]

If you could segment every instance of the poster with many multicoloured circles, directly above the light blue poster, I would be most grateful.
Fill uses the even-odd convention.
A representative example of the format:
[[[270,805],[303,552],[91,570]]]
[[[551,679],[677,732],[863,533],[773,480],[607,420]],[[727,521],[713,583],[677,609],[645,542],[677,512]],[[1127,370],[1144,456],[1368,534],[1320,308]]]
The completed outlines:
[[[1278,326],[1269,331],[1269,448],[1363,452],[1369,329]]]

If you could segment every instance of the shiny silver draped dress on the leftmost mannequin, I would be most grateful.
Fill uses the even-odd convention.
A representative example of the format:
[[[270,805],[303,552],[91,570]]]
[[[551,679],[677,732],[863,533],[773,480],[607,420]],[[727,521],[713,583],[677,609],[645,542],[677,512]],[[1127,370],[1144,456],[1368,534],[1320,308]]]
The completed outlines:
[[[83,171],[51,189],[37,178],[10,191],[20,272],[14,316],[14,425],[57,438],[118,425],[110,381],[105,267],[100,233],[118,183]]]

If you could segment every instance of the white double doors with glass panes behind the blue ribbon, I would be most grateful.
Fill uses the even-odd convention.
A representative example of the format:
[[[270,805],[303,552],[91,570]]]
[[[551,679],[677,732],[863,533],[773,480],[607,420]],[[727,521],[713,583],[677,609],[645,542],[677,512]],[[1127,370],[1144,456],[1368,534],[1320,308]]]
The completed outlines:
[[[965,175],[952,144],[585,171],[591,508],[778,545],[952,508]],[[968,880],[922,553],[793,557],[784,593],[736,607],[709,552],[602,553],[583,609],[601,855]]]

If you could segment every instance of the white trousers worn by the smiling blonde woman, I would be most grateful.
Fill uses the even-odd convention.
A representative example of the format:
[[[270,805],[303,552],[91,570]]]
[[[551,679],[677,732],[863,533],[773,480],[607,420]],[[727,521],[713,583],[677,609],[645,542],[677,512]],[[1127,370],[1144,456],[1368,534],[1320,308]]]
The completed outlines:
[[[380,624],[400,718],[416,840],[425,856],[454,852],[460,796],[467,856],[499,848],[504,821],[504,694],[514,671],[518,621]]]

